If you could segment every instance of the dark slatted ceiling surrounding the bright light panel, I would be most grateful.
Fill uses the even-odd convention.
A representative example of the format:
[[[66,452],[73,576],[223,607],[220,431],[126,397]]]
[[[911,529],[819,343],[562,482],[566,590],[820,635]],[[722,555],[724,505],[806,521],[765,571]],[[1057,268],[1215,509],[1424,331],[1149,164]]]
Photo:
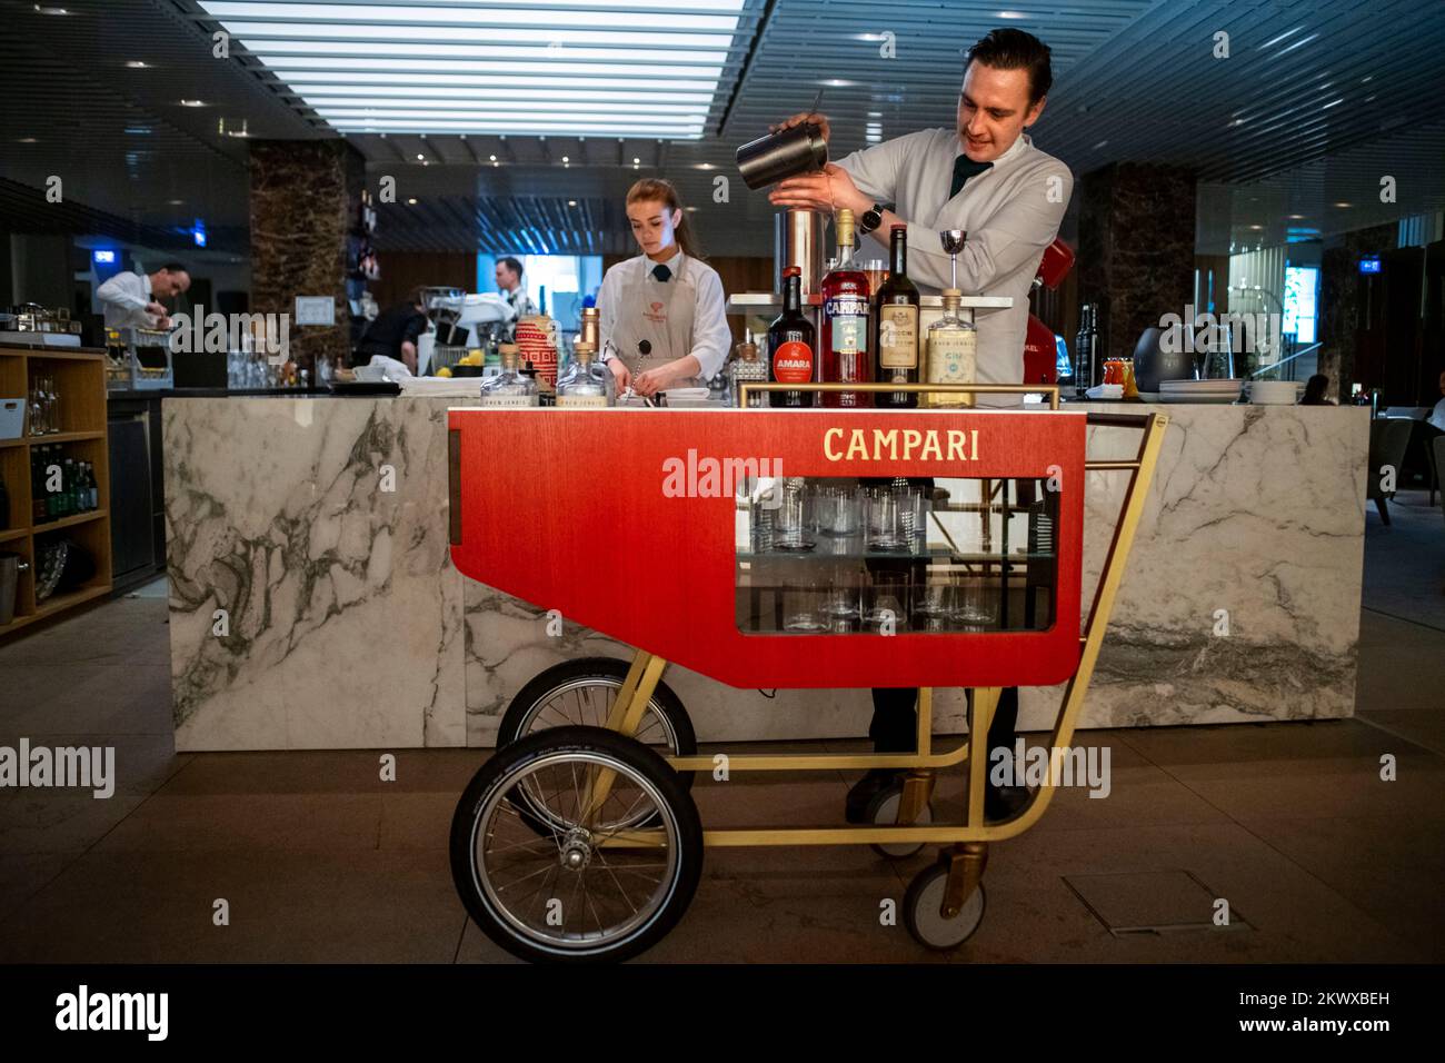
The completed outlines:
[[[150,234],[182,233],[199,217],[240,242],[247,139],[334,136],[243,49],[214,58],[214,25],[191,0],[68,1],[64,16],[38,7],[0,0],[0,178],[39,189],[61,175],[68,201]],[[737,178],[734,148],[805,108],[819,88],[834,156],[864,146],[870,121],[884,137],[952,124],[962,49],[997,25],[1027,29],[1053,49],[1055,87],[1036,143],[1075,175],[1118,161],[1194,168],[1209,204],[1201,250],[1445,208],[1445,3],[1435,0],[1006,9],[747,0],[701,140],[348,139],[373,184],[397,178],[400,202],[381,214],[383,247],[626,250],[617,204],[636,176],[663,174],[696,207],[709,250],[767,255],[772,210]],[[1228,58],[1215,56],[1221,32]],[[884,33],[893,58],[880,54]],[[384,56],[376,62],[384,69]],[[725,202],[715,201],[720,176],[730,182]],[[1381,202],[1383,176],[1394,178],[1396,202]],[[0,197],[0,227],[26,231],[38,208],[42,197],[27,205],[12,189]]]

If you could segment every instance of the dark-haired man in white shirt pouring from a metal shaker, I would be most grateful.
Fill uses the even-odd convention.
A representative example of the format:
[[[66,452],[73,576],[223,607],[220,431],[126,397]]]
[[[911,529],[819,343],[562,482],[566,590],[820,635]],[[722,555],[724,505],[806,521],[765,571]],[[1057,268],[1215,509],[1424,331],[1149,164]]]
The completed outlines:
[[[925,295],[949,283],[938,233],[962,229],[959,289],[1013,298],[1010,309],[974,312],[978,383],[1025,383],[1029,292],[1074,189],[1068,166],[1023,132],[1043,113],[1051,84],[1048,46],[1019,29],[996,29],[965,54],[957,129],[925,129],[854,152],[822,174],[779,182],[769,197],[779,207],[845,207],[884,250],[892,227],[906,224],[907,275]],[[802,121],[828,137],[821,114],[796,114],[780,127]],[[978,405],[1019,402],[978,398]]]

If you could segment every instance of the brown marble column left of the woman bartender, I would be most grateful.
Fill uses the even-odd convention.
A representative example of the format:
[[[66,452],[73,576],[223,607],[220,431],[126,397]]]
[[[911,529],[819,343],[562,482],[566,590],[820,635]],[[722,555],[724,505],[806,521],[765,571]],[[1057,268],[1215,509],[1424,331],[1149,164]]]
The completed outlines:
[[[350,351],[347,233],[366,162],[345,140],[251,142],[251,312],[292,314],[298,295],[335,299],[334,325],[292,321],[290,357],[315,372]]]

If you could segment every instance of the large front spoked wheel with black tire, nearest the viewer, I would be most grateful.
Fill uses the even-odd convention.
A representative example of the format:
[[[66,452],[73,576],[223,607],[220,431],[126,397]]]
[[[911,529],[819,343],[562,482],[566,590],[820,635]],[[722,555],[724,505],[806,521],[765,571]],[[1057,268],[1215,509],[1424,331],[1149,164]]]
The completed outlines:
[[[543,834],[519,800],[538,793]],[[702,823],[653,751],[600,727],[549,727],[499,749],[468,784],[451,865],[467,911],[512,955],[616,962],[682,918],[702,874]]]

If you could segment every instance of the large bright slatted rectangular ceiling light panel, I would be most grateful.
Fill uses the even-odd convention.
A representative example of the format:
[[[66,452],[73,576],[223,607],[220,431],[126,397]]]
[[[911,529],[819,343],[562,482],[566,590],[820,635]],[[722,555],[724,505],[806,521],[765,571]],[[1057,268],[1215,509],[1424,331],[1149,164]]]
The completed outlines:
[[[525,4],[525,22],[503,4],[455,0],[347,4],[345,20],[334,3],[197,6],[338,133],[696,140],[740,35],[751,32],[747,0],[681,13],[670,0],[535,4]],[[327,113],[318,103],[347,97],[376,113]]]

